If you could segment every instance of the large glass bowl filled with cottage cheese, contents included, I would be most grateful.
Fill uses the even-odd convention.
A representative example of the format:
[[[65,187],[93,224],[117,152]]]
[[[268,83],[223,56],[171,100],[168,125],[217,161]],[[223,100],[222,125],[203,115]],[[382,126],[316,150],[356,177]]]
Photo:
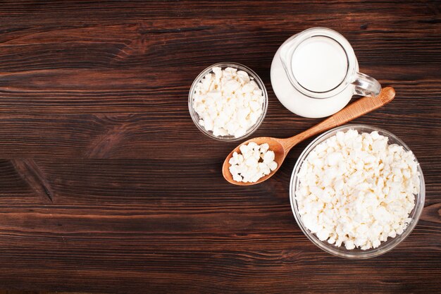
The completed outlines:
[[[291,204],[306,236],[348,258],[381,255],[412,231],[425,190],[409,148],[385,130],[347,125],[311,142],[294,166]]]

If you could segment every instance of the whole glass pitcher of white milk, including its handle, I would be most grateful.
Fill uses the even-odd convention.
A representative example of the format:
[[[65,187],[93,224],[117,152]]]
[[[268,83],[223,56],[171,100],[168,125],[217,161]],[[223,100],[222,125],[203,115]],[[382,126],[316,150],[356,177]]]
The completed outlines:
[[[271,85],[287,109],[309,118],[335,114],[354,94],[377,96],[381,90],[377,80],[359,73],[347,39],[325,27],[299,32],[280,46]]]

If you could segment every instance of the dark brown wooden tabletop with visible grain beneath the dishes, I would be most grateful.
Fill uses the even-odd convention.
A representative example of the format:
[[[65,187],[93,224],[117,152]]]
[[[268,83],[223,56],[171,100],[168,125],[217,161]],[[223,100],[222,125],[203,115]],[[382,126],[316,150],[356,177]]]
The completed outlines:
[[[441,291],[440,1],[1,1],[0,288],[99,293]],[[318,123],[285,109],[271,60],[308,27],[352,43],[397,91],[355,123],[385,128],[421,162],[426,205],[395,250],[333,257],[292,216],[289,183],[221,175],[237,143],[187,109],[206,66],[235,61],[268,88],[256,136]]]

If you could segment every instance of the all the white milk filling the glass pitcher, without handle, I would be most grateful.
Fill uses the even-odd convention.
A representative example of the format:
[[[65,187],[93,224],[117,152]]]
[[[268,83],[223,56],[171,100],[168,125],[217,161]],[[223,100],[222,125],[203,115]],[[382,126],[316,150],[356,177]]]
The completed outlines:
[[[344,39],[342,36],[341,38]],[[295,38],[288,39],[281,47],[293,40],[295,41]],[[335,39],[324,37],[319,33],[304,39],[295,48],[290,61],[290,69],[301,87],[311,92],[328,92],[346,79],[349,61],[347,51],[343,49],[341,44]],[[282,65],[280,48],[275,53],[271,64],[271,85],[283,106],[299,116],[321,118],[335,114],[348,104],[354,94],[355,86],[352,84],[347,85],[342,92],[324,99],[312,98],[297,90],[290,82]],[[352,71],[358,71],[359,64],[356,61],[356,56],[354,55],[352,58],[354,59]]]

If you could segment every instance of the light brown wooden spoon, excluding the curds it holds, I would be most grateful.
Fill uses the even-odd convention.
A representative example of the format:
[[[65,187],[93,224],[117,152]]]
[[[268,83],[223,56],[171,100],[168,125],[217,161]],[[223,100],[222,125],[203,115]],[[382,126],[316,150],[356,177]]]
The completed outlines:
[[[234,150],[232,150],[230,154],[228,154],[228,157],[223,162],[223,166],[222,166],[223,177],[225,178],[225,180],[228,180],[228,182],[235,185],[254,185],[254,184],[262,183],[263,180],[268,180],[268,178],[271,178],[271,176],[273,176],[273,174],[276,171],[278,171],[283,161],[285,160],[285,157],[287,156],[288,152],[290,152],[291,148],[297,145],[299,142],[302,142],[303,140],[306,140],[309,137],[312,137],[313,135],[322,133],[325,130],[330,130],[331,128],[335,128],[339,125],[347,123],[348,121],[352,121],[354,118],[358,118],[359,116],[362,116],[364,114],[367,114],[368,112],[378,109],[381,106],[391,102],[392,99],[394,99],[394,97],[395,97],[394,88],[385,87],[383,88],[383,90],[381,90],[380,94],[377,97],[360,98],[356,102],[344,107],[344,109],[338,111],[333,116],[326,118],[325,121],[322,121],[317,125],[314,125],[312,128],[309,128],[308,130],[305,130],[304,132],[299,133],[294,137],[288,137],[286,139],[278,139],[275,137],[255,137],[254,139],[247,140],[243,142],[241,145],[248,144],[249,142],[256,142],[256,144],[258,145],[261,145],[263,143],[268,143],[268,145],[270,145],[269,149],[273,150],[275,154],[274,160],[275,162],[277,162],[277,169],[275,169],[275,171],[272,171],[267,176],[263,176],[262,178],[257,180],[256,183],[236,182],[235,180],[232,179],[232,175],[230,173],[230,170],[228,169],[230,167],[230,163],[228,161],[232,157],[233,152],[240,153],[239,147],[241,145],[239,145]]]

